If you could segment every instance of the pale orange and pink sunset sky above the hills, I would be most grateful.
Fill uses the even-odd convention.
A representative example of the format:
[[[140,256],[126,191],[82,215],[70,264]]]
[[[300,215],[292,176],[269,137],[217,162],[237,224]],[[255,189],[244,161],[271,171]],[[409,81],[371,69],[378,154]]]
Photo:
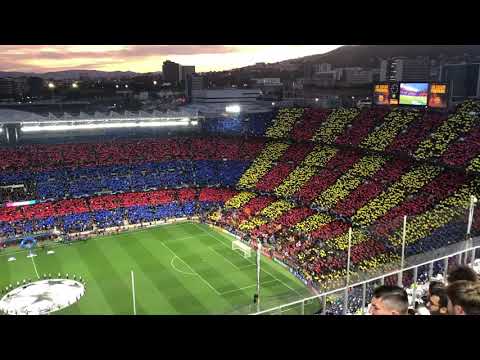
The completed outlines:
[[[0,45],[0,71],[161,71],[165,60],[197,72],[322,54],[341,45]]]

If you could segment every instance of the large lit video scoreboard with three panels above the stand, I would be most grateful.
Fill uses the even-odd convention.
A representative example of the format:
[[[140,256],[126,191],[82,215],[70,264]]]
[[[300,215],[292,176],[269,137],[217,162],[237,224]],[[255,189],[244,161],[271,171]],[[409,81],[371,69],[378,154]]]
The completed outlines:
[[[373,89],[373,103],[443,109],[448,105],[448,88],[442,83],[379,83]]]

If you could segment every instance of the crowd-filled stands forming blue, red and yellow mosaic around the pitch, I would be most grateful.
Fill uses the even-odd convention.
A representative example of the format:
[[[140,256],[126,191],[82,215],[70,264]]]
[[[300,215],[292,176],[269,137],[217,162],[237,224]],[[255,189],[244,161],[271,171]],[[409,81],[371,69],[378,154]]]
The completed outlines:
[[[205,119],[195,136],[1,148],[0,185],[42,202],[0,208],[0,237],[213,209],[303,279],[341,279],[351,226],[355,272],[398,262],[404,215],[407,255],[464,240],[480,195],[479,110],[285,108]]]

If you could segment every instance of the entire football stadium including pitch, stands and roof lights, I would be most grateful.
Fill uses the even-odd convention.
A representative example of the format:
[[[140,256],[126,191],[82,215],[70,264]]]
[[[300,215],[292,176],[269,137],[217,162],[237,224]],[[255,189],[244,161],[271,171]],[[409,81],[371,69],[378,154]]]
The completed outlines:
[[[0,112],[5,315],[402,313],[478,270],[473,100]]]

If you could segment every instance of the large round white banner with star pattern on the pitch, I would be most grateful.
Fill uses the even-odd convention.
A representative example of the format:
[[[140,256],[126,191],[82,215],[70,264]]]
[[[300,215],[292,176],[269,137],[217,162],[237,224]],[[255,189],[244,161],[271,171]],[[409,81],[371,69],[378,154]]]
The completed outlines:
[[[76,303],[85,286],[72,279],[48,279],[23,284],[0,300],[0,311],[9,315],[46,315]]]

